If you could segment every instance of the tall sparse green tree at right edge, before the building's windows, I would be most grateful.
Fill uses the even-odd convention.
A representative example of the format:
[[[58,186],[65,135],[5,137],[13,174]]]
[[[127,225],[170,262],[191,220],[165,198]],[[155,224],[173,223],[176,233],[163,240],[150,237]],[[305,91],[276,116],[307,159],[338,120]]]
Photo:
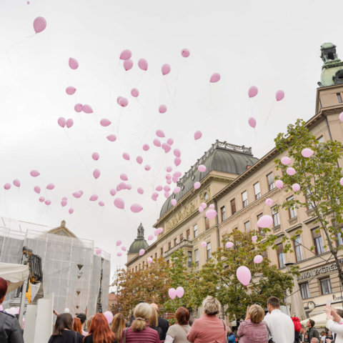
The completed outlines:
[[[287,167],[280,159],[275,161],[277,169],[282,170],[279,179],[284,183],[285,191],[291,191],[292,185],[299,184],[300,189],[296,199],[282,204],[283,208],[304,207],[322,229],[327,242],[327,247],[334,257],[337,265],[339,280],[343,284],[343,273],[339,264],[338,253],[342,246],[338,240],[342,235],[343,226],[343,187],[339,184],[342,178],[342,170],[338,161],[343,156],[343,144],[339,141],[327,141],[322,143],[309,132],[302,119],[296,124],[290,124],[287,132],[279,134],[275,144],[280,153],[287,151],[292,159],[292,167],[296,174],[287,174]],[[302,156],[303,149],[312,149],[314,154],[310,157]],[[319,232],[319,229],[317,232]],[[284,252],[292,250],[292,239],[302,232],[297,230],[291,237],[284,236]],[[275,235],[269,234],[268,242],[274,246]],[[314,247],[312,247],[313,249]]]

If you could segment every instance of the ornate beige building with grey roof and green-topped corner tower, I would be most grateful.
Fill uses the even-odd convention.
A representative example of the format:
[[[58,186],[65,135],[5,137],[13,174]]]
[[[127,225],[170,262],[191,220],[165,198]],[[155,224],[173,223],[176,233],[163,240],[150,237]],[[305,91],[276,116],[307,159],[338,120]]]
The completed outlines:
[[[321,81],[318,83],[315,114],[307,121],[307,128],[319,141],[343,141],[343,124],[339,114],[343,111],[343,62],[337,58],[336,46],[331,43],[322,47]],[[305,309],[320,311],[327,299],[332,303],[342,302],[342,287],[339,283],[336,265],[325,247],[323,232],[317,233],[319,224],[312,217],[311,208],[294,210],[268,207],[267,198],[273,199],[274,206],[291,197],[292,192],[277,189],[274,178],[280,173],[274,159],[281,158],[277,149],[272,149],[261,159],[252,156],[252,151],[244,146],[235,146],[217,141],[184,174],[179,182],[182,192],[176,195],[177,206],[171,205],[172,197],[166,200],[154,227],[163,228],[156,242],[146,248],[146,254],[129,254],[126,267],[132,271],[146,268],[146,257],[163,257],[166,262],[176,249],[184,249],[189,264],[195,262],[202,267],[216,251],[222,238],[234,228],[248,232],[257,229],[257,220],[263,214],[274,219],[272,231],[279,236],[277,249],[267,252],[272,264],[286,270],[288,262],[297,264],[301,273],[297,282],[300,287]],[[207,172],[200,174],[197,166],[204,164]],[[343,166],[343,161],[339,161]],[[194,182],[202,187],[195,190]],[[215,219],[207,219],[199,213],[202,202],[214,204]],[[294,241],[294,252],[283,252],[282,237],[292,235],[302,229]],[[201,243],[207,246],[202,247]],[[339,239],[343,245],[343,240]],[[314,250],[310,248],[314,246]],[[342,250],[343,255],[343,250]],[[343,263],[343,259],[342,259]]]

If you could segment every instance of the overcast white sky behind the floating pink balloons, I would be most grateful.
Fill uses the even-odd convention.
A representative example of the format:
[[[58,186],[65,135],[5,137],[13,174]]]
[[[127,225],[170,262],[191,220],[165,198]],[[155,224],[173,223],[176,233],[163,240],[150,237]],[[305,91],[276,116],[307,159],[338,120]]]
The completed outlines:
[[[78,237],[94,239],[111,253],[113,266],[126,262],[125,256],[116,257],[116,239],[129,247],[139,222],[151,234],[164,202],[163,194],[157,202],[150,197],[164,184],[174,156],[152,145],[156,129],[182,151],[182,172],[215,139],[252,146],[261,157],[287,124],[314,114],[320,45],[332,41],[343,57],[342,1],[330,6],[324,0],[30,1],[0,0],[0,216],[50,227],[65,219]],[[36,16],[47,21],[40,34],[34,34]],[[191,51],[188,59],[182,48]],[[134,68],[127,72],[119,63],[123,49],[133,53]],[[69,69],[69,57],[79,61],[79,69]],[[140,58],[149,62],[146,72],[136,65]],[[165,63],[172,72],[163,77]],[[210,85],[214,72],[222,79]],[[259,94],[248,100],[252,85]],[[75,86],[76,93],[66,95],[66,86]],[[133,87],[140,91],[138,99],[130,96]],[[277,103],[278,89],[286,96]],[[126,96],[129,106],[121,109],[117,96]],[[94,114],[76,114],[77,102],[90,104]],[[159,104],[168,107],[165,114],[159,114]],[[252,114],[256,139],[247,124]],[[74,126],[64,131],[59,116],[74,119]],[[113,124],[100,126],[102,118]],[[203,138],[195,142],[196,130]],[[119,140],[106,140],[117,131]],[[141,149],[144,143],[149,151]],[[99,161],[91,159],[94,151]],[[123,152],[131,161],[122,159]],[[151,164],[149,172],[136,164],[138,155],[143,165]],[[101,170],[97,180],[94,168]],[[31,169],[41,176],[30,177]],[[109,194],[123,172],[132,185],[120,192],[125,212],[114,207]],[[13,179],[20,179],[20,189],[5,191],[3,184]],[[53,191],[45,189],[49,182],[56,184]],[[49,207],[38,201],[36,184],[51,199]],[[79,189],[84,196],[73,199]],[[105,207],[89,202],[91,194]],[[64,196],[68,206],[62,208]],[[133,203],[144,210],[131,213]],[[69,207],[74,214],[68,214]]]

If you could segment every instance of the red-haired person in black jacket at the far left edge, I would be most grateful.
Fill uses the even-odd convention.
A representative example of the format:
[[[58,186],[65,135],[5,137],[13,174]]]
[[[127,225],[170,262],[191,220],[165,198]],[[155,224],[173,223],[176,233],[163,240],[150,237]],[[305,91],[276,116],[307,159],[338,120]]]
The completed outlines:
[[[0,304],[4,302],[7,292],[7,282],[0,277]],[[18,319],[6,312],[0,311],[0,337],[1,343],[24,343]]]

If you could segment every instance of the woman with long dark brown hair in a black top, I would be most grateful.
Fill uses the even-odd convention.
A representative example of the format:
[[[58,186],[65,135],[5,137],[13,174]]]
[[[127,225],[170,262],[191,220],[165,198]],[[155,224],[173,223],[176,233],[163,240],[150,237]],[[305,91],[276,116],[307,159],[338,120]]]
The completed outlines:
[[[57,316],[54,331],[48,343],[81,343],[82,335],[73,331],[73,317],[70,313],[61,313]]]

